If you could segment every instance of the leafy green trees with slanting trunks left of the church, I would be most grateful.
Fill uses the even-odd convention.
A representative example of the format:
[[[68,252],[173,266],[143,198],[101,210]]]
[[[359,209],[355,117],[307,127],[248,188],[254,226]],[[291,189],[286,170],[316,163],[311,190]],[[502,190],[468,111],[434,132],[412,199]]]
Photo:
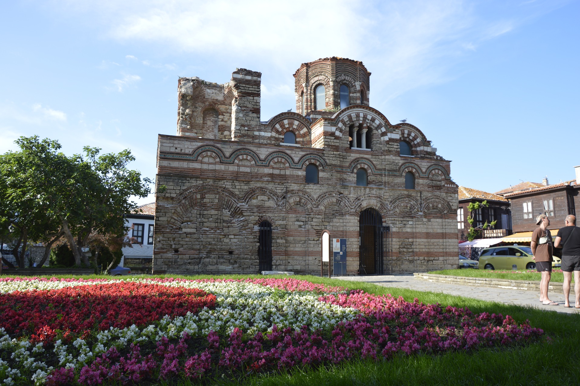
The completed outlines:
[[[0,233],[16,240],[21,267],[29,244],[44,243],[44,264],[63,236],[75,264],[88,266],[83,248],[90,235],[123,237],[123,215],[137,206],[131,196],[150,192],[151,180],[128,168],[135,160],[129,150],[100,154],[85,146],[83,154],[67,157],[56,140],[31,136],[16,143],[19,151],[0,155]]]

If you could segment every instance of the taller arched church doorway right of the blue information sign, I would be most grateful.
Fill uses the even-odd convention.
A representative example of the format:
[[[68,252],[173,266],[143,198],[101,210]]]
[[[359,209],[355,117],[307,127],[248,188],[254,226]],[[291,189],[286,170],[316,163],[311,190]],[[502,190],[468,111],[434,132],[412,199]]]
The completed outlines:
[[[362,211],[358,219],[360,246],[358,250],[358,273],[372,275],[383,273],[383,219],[376,209]]]

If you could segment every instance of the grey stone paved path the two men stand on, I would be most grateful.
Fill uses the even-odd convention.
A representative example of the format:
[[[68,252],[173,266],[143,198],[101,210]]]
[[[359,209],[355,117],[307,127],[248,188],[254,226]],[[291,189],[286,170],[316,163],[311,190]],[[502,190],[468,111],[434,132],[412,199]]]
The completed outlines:
[[[531,305],[546,311],[563,313],[580,313],[574,308],[574,296],[570,295],[572,308],[564,308],[564,295],[548,292],[550,300],[557,306],[541,305],[539,291],[508,290],[504,288],[463,286],[461,284],[433,283],[427,280],[415,279],[412,273],[402,275],[381,276],[333,276],[333,279],[351,280],[353,282],[368,282],[385,287],[410,288],[418,291],[442,292],[450,295],[460,295],[480,300],[496,301],[517,305]],[[574,283],[572,283],[574,285]]]

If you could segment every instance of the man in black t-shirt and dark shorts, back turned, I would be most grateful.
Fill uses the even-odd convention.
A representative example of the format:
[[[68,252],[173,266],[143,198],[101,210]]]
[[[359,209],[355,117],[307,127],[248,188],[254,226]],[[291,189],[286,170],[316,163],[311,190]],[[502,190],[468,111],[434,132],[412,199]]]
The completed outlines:
[[[576,226],[574,215],[566,216],[566,226],[560,228],[554,240],[554,247],[562,248],[562,270],[564,272],[564,307],[570,307],[570,282],[574,271],[574,294],[576,308],[580,308],[580,229]],[[564,247],[562,247],[562,244]]]

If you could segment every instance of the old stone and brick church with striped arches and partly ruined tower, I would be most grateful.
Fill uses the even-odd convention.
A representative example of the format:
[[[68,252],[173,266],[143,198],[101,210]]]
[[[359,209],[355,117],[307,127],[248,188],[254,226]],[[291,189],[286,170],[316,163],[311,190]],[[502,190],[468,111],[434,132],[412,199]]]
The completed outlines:
[[[457,265],[449,161],[371,107],[362,62],[303,63],[296,112],[267,121],[261,75],[179,79],[177,135],[158,138],[154,273],[320,275],[325,230],[346,239],[341,274]]]

